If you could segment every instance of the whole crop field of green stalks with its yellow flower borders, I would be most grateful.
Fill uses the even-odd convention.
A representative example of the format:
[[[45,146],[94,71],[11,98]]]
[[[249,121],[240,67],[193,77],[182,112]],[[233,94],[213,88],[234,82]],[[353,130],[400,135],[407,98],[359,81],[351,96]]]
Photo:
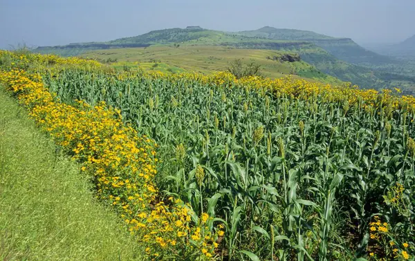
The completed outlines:
[[[415,98],[0,52],[149,260],[414,260]]]

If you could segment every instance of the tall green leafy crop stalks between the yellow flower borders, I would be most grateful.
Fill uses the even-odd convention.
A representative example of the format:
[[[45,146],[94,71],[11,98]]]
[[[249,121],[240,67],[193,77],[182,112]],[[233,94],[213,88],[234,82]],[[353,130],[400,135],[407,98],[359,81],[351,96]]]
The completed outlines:
[[[156,140],[165,195],[225,228],[219,259],[351,260],[373,249],[388,257],[370,231],[375,215],[394,227],[383,239],[414,247],[415,115],[405,104],[119,78],[66,70],[44,81],[68,103],[105,101]]]

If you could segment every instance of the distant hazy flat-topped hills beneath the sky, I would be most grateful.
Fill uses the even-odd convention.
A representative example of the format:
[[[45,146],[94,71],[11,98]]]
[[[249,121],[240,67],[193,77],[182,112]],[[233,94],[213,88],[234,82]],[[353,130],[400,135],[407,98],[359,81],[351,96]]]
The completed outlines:
[[[92,50],[143,48],[148,46],[229,46],[243,49],[295,52],[303,61],[342,81],[363,88],[414,87],[415,77],[400,79],[396,72],[376,71],[377,66],[399,61],[362,48],[349,38],[335,38],[304,30],[263,27],[258,30],[223,32],[199,26],[154,30],[136,37],[107,42],[71,43],[66,46],[39,47],[36,52],[59,55],[82,55]],[[365,66],[362,66],[365,65]],[[388,73],[385,77],[385,73]],[[408,79],[409,77],[409,79]],[[402,80],[402,81],[401,81]]]

